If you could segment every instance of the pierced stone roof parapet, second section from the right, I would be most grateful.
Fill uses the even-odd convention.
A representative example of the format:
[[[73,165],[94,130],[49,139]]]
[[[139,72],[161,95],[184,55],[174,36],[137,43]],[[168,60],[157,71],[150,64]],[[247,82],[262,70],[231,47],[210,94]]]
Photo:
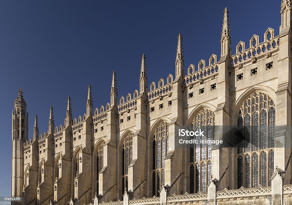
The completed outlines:
[[[206,67],[205,60],[201,59],[198,63],[198,70],[195,71],[195,66],[191,64],[187,69],[187,75],[185,76],[185,85],[193,84],[196,82],[200,82],[201,84],[204,82],[204,78],[214,75],[218,72],[218,62],[217,56],[212,54],[209,58],[209,65]]]

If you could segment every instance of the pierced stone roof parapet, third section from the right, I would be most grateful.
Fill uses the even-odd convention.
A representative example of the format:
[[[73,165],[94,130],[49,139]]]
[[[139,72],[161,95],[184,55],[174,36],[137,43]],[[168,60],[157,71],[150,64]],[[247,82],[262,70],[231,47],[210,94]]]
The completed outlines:
[[[148,100],[154,100],[156,98],[162,99],[164,96],[172,95],[172,83],[173,83],[173,75],[169,74],[166,80],[166,84],[164,84],[164,79],[160,78],[158,81],[158,88],[156,88],[156,84],[152,82],[150,84],[150,91],[147,93]]]

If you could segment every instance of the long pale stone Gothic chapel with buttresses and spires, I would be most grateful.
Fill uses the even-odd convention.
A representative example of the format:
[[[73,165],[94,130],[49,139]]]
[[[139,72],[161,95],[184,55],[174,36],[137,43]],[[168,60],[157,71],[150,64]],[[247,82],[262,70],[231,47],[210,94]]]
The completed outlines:
[[[12,197],[20,204],[292,204],[291,0],[281,2],[280,34],[268,28],[231,52],[227,8],[221,55],[184,66],[178,35],[175,76],[147,88],[142,55],[140,89],[118,99],[112,74],[110,103],[64,124],[53,107],[48,131],[32,139],[22,90],[12,112]],[[64,113],[65,114],[65,113]],[[259,126],[239,148],[175,148],[175,126]],[[285,148],[276,147],[281,142]],[[12,202],[19,204],[19,202]]]

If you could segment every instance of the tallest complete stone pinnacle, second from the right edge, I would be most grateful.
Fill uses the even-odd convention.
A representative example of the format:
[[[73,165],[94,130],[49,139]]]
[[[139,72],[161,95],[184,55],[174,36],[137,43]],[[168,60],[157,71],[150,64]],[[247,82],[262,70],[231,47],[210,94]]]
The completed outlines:
[[[231,38],[230,38],[230,28],[229,28],[229,20],[228,20],[228,9],[227,7],[223,11],[223,27],[221,33],[221,60],[222,57],[227,57],[230,50]]]

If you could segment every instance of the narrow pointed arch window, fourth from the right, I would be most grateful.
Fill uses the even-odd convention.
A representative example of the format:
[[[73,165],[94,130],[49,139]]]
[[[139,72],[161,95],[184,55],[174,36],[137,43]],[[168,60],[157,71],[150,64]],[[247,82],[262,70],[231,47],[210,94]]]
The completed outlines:
[[[122,147],[122,176],[121,176],[121,194],[124,194],[125,188],[128,190],[128,168],[133,160],[133,132],[128,133],[124,138]]]

